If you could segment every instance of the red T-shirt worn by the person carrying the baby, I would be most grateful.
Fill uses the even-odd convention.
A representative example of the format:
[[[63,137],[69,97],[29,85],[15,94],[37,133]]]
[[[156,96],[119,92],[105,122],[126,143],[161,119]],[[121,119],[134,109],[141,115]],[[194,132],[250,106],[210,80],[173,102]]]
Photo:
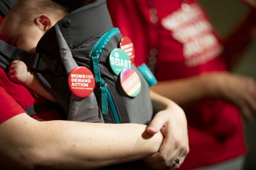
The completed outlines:
[[[23,108],[46,102],[48,101],[42,96],[12,82],[0,68],[0,123],[20,113],[26,113]],[[56,110],[38,113],[32,117],[41,120],[62,120],[62,116]]]

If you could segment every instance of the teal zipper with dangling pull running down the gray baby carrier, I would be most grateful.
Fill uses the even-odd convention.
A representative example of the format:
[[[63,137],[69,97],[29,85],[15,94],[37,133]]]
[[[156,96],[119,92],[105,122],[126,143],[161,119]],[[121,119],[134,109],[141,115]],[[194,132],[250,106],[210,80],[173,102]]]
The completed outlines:
[[[112,28],[111,30],[107,31],[103,36],[101,36],[101,38],[96,42],[93,49],[91,50],[90,59],[93,61],[95,82],[99,83],[101,87],[101,112],[102,114],[107,114],[109,105],[110,113],[112,115],[114,123],[121,123],[112,95],[110,94],[104,80],[101,78],[99,70],[99,56],[101,55],[102,50],[105,48],[109,40],[117,33],[120,33],[118,28]]]

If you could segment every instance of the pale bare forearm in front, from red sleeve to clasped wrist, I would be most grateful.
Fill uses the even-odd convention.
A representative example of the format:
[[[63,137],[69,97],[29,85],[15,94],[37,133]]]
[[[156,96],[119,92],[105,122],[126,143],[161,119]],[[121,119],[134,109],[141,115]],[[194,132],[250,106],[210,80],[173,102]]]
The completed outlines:
[[[146,125],[40,122],[25,113],[0,124],[5,168],[93,169],[143,159],[158,151],[162,134]]]

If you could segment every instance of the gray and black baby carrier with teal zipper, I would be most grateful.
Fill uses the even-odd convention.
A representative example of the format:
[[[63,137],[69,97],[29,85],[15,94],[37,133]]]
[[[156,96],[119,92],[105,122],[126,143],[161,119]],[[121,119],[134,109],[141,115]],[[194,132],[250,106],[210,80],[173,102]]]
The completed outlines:
[[[106,2],[98,0],[59,20],[40,39],[36,53],[1,41],[0,65],[6,68],[12,60],[24,61],[67,113],[67,120],[147,124],[153,115],[148,83],[132,66],[141,80],[141,91],[130,97],[110,68],[109,54],[121,39]],[[68,86],[68,75],[77,66],[90,69],[95,77],[93,93],[85,98],[75,96]]]

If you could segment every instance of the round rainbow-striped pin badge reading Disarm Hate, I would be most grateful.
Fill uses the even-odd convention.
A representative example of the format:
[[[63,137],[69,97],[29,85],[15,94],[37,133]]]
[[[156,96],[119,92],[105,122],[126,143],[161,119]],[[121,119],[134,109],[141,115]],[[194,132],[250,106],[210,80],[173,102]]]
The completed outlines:
[[[135,97],[141,91],[141,80],[133,69],[125,68],[121,71],[120,83],[123,91],[128,96]]]

